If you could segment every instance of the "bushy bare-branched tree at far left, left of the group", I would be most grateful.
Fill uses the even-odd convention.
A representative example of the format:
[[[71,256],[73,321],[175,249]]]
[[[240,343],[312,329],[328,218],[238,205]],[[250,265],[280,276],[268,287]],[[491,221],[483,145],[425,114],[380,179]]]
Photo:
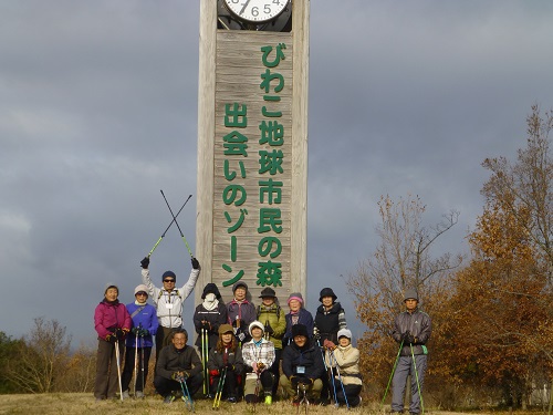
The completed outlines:
[[[34,319],[34,328],[22,339],[18,359],[8,369],[8,377],[30,393],[52,392],[65,371],[71,336],[56,320]]]

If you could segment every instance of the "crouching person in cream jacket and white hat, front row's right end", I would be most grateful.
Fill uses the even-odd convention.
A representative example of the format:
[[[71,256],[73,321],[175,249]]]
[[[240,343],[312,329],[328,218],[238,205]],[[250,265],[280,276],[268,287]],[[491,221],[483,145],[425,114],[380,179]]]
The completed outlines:
[[[359,372],[359,350],[352,345],[352,332],[347,329],[338,331],[338,344],[326,354],[326,365],[340,371],[334,373],[336,403],[356,407],[361,404],[363,381]],[[342,381],[342,383],[341,383]],[[342,387],[343,386],[343,387]],[[345,395],[344,395],[345,394]]]

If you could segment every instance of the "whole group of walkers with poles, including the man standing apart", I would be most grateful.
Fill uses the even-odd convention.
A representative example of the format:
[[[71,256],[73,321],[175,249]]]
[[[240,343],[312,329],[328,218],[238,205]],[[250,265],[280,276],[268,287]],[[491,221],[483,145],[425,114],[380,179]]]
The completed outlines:
[[[149,258],[144,258],[143,283],[135,288],[135,301],[127,305],[118,302],[117,286],[107,284],[94,315],[98,334],[96,400],[113,398],[118,390],[122,398],[129,397],[133,372],[134,395],[144,396],[155,339],[154,386],[166,403],[171,403],[182,386],[190,396],[204,386],[206,397],[218,395],[230,403],[243,398],[270,405],[280,385],[279,396],[296,405],[304,401],[327,404],[330,400],[347,407],[361,404],[359,351],[352,345],[344,309],[331,288],[321,290],[321,304],[313,318],[301,293],[289,295],[285,312],[272,288],[261,291],[261,304],[255,307],[243,281],[232,286],[232,300],[227,304],[218,287],[207,283],[194,313],[200,359],[197,349],[187,344],[188,333],[182,329],[182,304],[200,272],[196,258],[191,263],[188,281],[180,289],[175,287],[173,271],[163,274],[163,287],[157,288],[149,276]],[[148,298],[154,305],[147,303]],[[401,351],[394,373],[392,408],[403,413],[406,378],[413,374],[410,363],[416,362],[420,373],[415,387],[419,394],[413,394],[409,412],[418,414],[425,344],[431,326],[428,315],[417,308],[416,293],[408,291],[405,303],[407,314],[398,315],[393,333]],[[417,388],[411,385],[411,391]]]

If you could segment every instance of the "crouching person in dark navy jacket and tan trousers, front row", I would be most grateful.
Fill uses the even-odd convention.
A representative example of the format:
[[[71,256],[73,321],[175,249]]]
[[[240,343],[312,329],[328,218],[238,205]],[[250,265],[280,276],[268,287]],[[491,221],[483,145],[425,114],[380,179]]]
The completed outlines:
[[[324,375],[321,351],[309,339],[307,328],[303,324],[292,326],[293,343],[282,352],[282,375],[280,385],[289,397],[298,403],[298,384],[307,386],[307,394],[319,398]]]

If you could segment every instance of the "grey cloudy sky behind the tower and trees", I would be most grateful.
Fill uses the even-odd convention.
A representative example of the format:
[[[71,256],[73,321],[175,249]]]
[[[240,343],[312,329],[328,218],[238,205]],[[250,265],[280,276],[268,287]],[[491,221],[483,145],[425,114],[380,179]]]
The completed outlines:
[[[553,107],[552,22],[550,0],[311,1],[307,309],[331,286],[354,319],[340,276],[378,242],[380,195],[419,195],[429,225],[459,210],[440,249],[467,250],[481,162]],[[159,189],[198,193],[198,30],[199,0],[0,0],[0,331],[43,315],[94,344],[105,283],[133,299],[170,221]],[[152,267],[184,282],[176,228]]]

